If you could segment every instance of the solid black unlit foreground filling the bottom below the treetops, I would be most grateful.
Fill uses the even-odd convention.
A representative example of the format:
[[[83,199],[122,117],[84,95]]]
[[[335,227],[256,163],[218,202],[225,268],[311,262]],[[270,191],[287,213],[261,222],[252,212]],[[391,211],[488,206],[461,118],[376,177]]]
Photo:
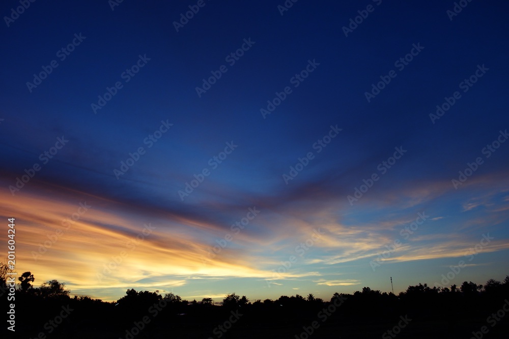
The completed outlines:
[[[410,287],[395,296],[364,288],[329,301],[297,295],[221,306],[129,292],[116,303],[18,294],[16,332],[40,339],[507,338],[509,295]],[[4,313],[5,315],[6,313]],[[484,333],[483,333],[484,331]]]

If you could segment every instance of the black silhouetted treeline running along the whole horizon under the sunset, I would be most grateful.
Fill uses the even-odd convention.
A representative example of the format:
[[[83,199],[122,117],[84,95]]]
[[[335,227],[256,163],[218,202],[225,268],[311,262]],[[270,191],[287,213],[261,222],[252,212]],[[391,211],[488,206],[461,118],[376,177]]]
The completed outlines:
[[[470,337],[505,302],[509,310],[509,275],[503,282],[490,279],[484,285],[464,282],[459,287],[439,288],[418,284],[399,295],[364,287],[353,294],[334,293],[327,300],[313,294],[249,300],[232,293],[220,304],[213,304],[212,298],[189,301],[174,293],[161,295],[159,291],[135,289],[128,289],[116,302],[104,302],[86,296],[71,297],[65,283],[56,280],[35,288],[31,272],[23,273],[18,280],[16,336],[11,333],[10,337],[22,338],[94,335],[97,339],[133,339],[166,337],[172,333],[175,337],[194,337],[190,333],[196,337],[230,337],[242,331],[248,337],[247,331],[254,328],[294,333],[297,337],[306,329],[316,333],[341,329],[348,337],[348,331],[354,335],[357,328],[370,329],[380,337],[403,316],[411,319],[406,331],[418,324],[433,324],[441,332],[429,333],[431,337],[442,334]],[[5,279],[0,278],[0,285],[8,289]],[[492,329],[492,337],[496,337],[497,331],[507,331],[507,319],[502,318],[496,322],[498,327]],[[312,325],[320,328],[309,327]]]

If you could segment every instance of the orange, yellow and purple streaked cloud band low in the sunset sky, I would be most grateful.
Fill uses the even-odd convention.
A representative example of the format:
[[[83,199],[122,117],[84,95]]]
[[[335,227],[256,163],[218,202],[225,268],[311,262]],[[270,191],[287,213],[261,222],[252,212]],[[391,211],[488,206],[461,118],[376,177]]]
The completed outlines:
[[[12,180],[4,177],[0,181],[8,186]],[[496,184],[500,185],[500,181]],[[293,197],[281,193],[263,201],[259,195],[243,196],[239,199],[242,201],[234,204],[228,200],[204,203],[202,209],[193,213],[190,207],[178,210],[150,206],[150,199],[136,205],[123,198],[111,199],[35,180],[14,199],[8,191],[0,191],[0,213],[15,216],[18,227],[23,227],[23,237],[18,240],[17,268],[35,273],[36,285],[58,279],[66,282],[74,294],[111,300],[124,294],[127,288],[192,288],[201,281],[232,278],[275,285],[282,285],[285,280],[309,281],[328,274],[334,265],[343,267],[350,262],[353,267],[367,267],[395,239],[402,240],[402,244],[384,259],[386,262],[461,257],[480,240],[487,225],[503,228],[508,220],[501,203],[506,194],[498,189],[500,186],[496,187],[487,186],[482,192],[477,186],[463,187],[461,196],[469,196],[457,198],[458,212],[464,210],[460,214],[451,214],[450,210],[445,214],[435,207],[448,199],[442,182],[394,187],[382,191],[387,199],[384,196],[383,201],[374,205],[371,198],[363,198],[359,201],[362,204],[352,209],[342,205],[344,197],[332,192],[325,181],[315,188],[306,186]],[[293,192],[298,191],[296,181]],[[373,193],[372,199],[381,194]],[[420,194],[422,197],[417,199]],[[400,205],[409,196],[415,197],[416,205]],[[70,216],[85,201],[92,207],[66,229],[66,220],[70,222]],[[476,202],[486,208],[463,208]],[[243,218],[252,206],[257,206],[261,213],[245,229],[233,234],[231,224]],[[419,226],[409,239],[403,239],[400,230],[424,210],[433,218]],[[465,217],[458,219],[458,215]],[[144,225],[149,224],[154,228],[152,232],[142,240],[137,239]],[[318,229],[324,234],[307,245],[302,256],[297,255],[297,246],[305,244]],[[63,234],[51,242],[49,239],[59,230]],[[217,240],[229,233],[233,240],[214,258],[209,257]],[[4,238],[4,234],[0,235],[0,239]],[[44,246],[45,242],[50,246]],[[39,253],[41,246],[45,251],[36,260],[33,253]],[[508,248],[506,236],[502,235],[483,251]],[[292,255],[297,258],[295,265],[274,276],[274,270]],[[108,266],[115,268],[108,272],[105,270]],[[98,274],[104,275],[100,281]],[[324,286],[360,284],[360,280],[316,282]]]

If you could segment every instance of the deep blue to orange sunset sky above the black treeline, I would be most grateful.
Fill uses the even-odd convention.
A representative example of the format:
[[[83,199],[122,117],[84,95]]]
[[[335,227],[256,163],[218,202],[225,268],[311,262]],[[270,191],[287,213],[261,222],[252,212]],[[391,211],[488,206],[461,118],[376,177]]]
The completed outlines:
[[[108,301],[503,280],[509,5],[460,3],[3,2],[1,256],[15,218],[18,274]]]

